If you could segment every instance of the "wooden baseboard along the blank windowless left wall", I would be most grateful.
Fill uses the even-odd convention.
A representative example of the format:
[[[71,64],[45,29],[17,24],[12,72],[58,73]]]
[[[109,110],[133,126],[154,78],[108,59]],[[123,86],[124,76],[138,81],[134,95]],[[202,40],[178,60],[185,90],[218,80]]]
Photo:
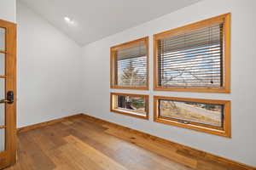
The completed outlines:
[[[83,114],[76,114],[76,115],[73,115],[73,116],[65,116],[65,117],[54,119],[54,120],[51,120],[51,121],[48,121],[48,122],[40,122],[40,123],[29,125],[29,126],[26,126],[26,127],[20,127],[20,128],[17,129],[17,133],[26,132],[28,130],[32,130],[32,129],[39,128],[39,127],[46,127],[46,126],[55,124],[56,122],[67,121],[68,119],[72,119],[72,118],[79,117],[79,116],[83,116]]]

